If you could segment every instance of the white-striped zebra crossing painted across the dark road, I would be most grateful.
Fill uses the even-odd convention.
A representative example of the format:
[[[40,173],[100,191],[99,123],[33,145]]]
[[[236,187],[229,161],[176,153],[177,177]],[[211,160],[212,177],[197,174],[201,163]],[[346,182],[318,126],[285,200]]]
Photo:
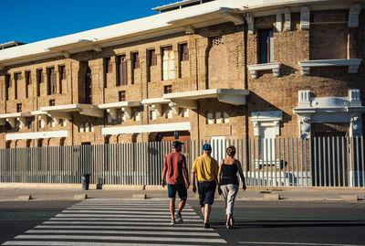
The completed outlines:
[[[183,224],[170,225],[168,199],[90,199],[2,245],[224,245],[186,204]]]

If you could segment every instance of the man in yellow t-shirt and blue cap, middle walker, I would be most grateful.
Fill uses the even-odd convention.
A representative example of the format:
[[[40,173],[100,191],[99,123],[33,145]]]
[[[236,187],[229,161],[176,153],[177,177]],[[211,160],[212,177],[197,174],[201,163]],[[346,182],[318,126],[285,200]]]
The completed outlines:
[[[193,164],[192,182],[193,192],[196,192],[195,176],[198,178],[199,203],[204,216],[204,228],[210,228],[209,217],[214,202],[215,187],[217,185],[218,162],[211,156],[211,144],[203,145],[203,155]]]

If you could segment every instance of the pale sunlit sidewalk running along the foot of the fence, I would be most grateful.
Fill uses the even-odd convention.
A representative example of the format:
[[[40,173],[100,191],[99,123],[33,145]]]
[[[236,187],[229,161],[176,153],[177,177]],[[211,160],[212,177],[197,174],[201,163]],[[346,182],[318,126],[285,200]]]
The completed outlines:
[[[13,186],[12,186],[13,185]],[[18,200],[31,196],[29,201],[70,200],[88,198],[167,198],[167,189],[142,186],[104,186],[82,190],[81,185],[56,184],[0,184],[0,201]],[[74,198],[78,196],[78,198]],[[188,198],[197,199],[191,190]],[[216,198],[223,199],[216,194]],[[240,190],[238,200],[246,201],[337,201],[365,202],[364,187],[248,187]]]

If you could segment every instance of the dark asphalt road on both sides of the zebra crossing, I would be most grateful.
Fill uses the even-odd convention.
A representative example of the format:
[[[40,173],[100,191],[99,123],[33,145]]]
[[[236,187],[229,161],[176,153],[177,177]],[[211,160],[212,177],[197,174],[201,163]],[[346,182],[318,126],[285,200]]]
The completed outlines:
[[[0,202],[0,244],[76,203]],[[201,216],[198,202],[188,203]],[[360,202],[237,202],[235,228],[227,230],[224,202],[216,201],[211,224],[211,232],[219,233],[228,245],[365,245],[365,203]]]

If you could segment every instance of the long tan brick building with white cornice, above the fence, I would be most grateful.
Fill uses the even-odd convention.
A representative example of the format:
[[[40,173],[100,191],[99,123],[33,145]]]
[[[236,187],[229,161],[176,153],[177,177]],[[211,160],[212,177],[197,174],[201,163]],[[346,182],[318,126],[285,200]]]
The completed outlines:
[[[0,148],[362,135],[364,1],[185,0],[0,46]]]

